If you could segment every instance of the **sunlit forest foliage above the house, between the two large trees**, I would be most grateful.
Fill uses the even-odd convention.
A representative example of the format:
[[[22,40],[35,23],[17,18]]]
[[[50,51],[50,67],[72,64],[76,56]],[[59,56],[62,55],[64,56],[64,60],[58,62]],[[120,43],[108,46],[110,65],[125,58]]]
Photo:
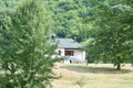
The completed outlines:
[[[54,32],[59,37],[76,36],[78,42],[89,37],[91,24],[83,19],[91,15],[86,0],[47,0],[47,6],[53,13]]]

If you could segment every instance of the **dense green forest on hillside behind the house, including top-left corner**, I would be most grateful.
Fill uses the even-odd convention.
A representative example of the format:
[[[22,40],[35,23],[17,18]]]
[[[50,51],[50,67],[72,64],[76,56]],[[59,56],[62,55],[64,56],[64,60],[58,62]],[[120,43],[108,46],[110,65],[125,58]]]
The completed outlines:
[[[18,3],[23,0],[1,0],[1,11],[6,9],[14,9]],[[42,0],[44,6],[52,15],[51,30],[58,37],[73,37],[76,36],[78,42],[86,41],[89,37],[95,37],[92,33],[94,18],[110,18],[108,10],[115,9],[115,12],[121,13],[119,10],[130,10],[132,12],[132,1],[125,0]],[[126,6],[123,6],[126,4]],[[104,9],[104,10],[103,10]],[[104,12],[106,10],[106,13]],[[99,12],[101,11],[101,14]],[[110,11],[109,11],[110,12]],[[115,14],[116,14],[115,13]],[[105,15],[106,14],[106,15]],[[130,14],[129,14],[130,15]],[[121,15],[122,16],[122,15]],[[132,20],[132,18],[131,18]]]

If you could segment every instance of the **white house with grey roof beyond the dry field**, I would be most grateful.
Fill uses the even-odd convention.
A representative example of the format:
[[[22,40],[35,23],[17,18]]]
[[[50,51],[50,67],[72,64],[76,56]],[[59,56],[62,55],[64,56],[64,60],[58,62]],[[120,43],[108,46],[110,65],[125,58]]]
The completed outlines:
[[[58,43],[55,52],[64,58],[64,63],[85,62],[85,51],[76,41],[72,38],[55,38],[52,36],[52,42]]]

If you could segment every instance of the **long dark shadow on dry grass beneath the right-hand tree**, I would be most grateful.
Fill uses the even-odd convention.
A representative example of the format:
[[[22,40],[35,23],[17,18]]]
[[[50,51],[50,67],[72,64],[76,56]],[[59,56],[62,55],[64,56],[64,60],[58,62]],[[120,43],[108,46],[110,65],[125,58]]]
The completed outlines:
[[[116,70],[113,67],[89,67],[89,66],[72,66],[72,65],[61,66],[60,68],[65,68],[78,73],[92,73],[92,74],[126,74],[133,72],[131,69]]]

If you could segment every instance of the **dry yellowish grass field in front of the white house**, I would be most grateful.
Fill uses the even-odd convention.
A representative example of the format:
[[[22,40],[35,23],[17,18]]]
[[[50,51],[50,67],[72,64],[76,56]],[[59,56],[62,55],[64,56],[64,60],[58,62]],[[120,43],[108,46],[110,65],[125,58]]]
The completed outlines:
[[[52,82],[53,88],[133,88],[133,67],[126,64],[116,70],[112,64],[57,64],[61,76]]]

